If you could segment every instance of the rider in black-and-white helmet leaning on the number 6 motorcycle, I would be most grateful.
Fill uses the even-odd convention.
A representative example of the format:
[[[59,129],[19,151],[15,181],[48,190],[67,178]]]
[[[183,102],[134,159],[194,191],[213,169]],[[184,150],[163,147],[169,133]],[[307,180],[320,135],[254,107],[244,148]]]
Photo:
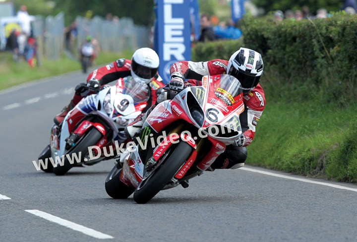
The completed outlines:
[[[169,87],[177,90],[177,92],[187,86],[202,85],[201,79],[205,75],[225,73],[235,76],[243,88],[244,112],[239,116],[242,134],[232,145],[227,145],[225,152],[208,169],[210,171],[214,169],[237,169],[244,166],[247,158],[246,146],[254,138],[256,124],[265,107],[264,91],[259,84],[263,74],[262,57],[256,51],[240,48],[229,60],[178,61],[170,68],[171,81]],[[185,82],[185,79],[190,80]],[[172,98],[170,92],[163,92],[158,98],[158,102]],[[125,128],[126,136],[133,137],[140,131],[147,115],[153,108],[127,125]]]

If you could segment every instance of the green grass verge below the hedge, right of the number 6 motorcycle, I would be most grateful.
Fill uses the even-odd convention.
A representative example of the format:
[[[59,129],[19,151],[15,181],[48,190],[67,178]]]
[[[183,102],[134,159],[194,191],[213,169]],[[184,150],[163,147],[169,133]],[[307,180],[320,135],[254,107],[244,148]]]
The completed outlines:
[[[357,107],[274,101],[264,109],[247,164],[339,182],[357,181]]]

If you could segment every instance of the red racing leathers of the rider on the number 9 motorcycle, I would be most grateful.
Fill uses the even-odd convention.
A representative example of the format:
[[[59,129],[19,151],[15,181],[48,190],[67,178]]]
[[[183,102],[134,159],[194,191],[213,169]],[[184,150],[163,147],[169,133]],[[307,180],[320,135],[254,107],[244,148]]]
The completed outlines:
[[[91,92],[84,91],[86,90],[83,88],[85,85],[94,83],[93,85],[103,86],[112,81],[115,81],[119,78],[123,78],[126,76],[130,76],[130,69],[131,69],[131,60],[127,59],[118,59],[110,64],[102,66],[92,73],[90,73],[87,77],[87,83],[78,84],[75,88],[75,93],[70,101],[69,105],[63,108],[62,112],[55,117],[54,122],[56,124],[60,124],[67,113],[74,108],[75,105],[82,100],[83,97],[92,94]],[[96,84],[98,83],[98,84]],[[157,73],[151,82],[148,84],[150,87],[150,98],[148,100],[147,107],[143,110],[146,112],[151,106],[156,103],[158,95],[162,92],[162,88],[164,87],[164,83],[162,82],[162,78]]]

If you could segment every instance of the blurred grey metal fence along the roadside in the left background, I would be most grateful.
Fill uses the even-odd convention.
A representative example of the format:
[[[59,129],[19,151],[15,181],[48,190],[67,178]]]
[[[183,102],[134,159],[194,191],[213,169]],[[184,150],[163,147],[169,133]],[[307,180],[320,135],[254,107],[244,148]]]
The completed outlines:
[[[57,60],[64,51],[64,14],[57,16],[36,16],[33,33],[37,37],[39,56],[48,60]],[[150,46],[150,29],[134,25],[132,19],[121,18],[108,21],[95,16],[92,19],[76,18],[77,35],[71,41],[71,54],[78,55],[78,50],[87,35],[99,42],[102,52],[121,52]]]

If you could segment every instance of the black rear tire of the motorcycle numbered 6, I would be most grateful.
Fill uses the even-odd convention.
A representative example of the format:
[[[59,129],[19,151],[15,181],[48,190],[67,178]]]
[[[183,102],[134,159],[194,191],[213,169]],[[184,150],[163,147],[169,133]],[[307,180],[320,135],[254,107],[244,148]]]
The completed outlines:
[[[108,174],[105,187],[107,194],[116,199],[126,199],[130,196],[135,188],[129,187],[120,181],[121,169],[114,166],[112,171]]]

